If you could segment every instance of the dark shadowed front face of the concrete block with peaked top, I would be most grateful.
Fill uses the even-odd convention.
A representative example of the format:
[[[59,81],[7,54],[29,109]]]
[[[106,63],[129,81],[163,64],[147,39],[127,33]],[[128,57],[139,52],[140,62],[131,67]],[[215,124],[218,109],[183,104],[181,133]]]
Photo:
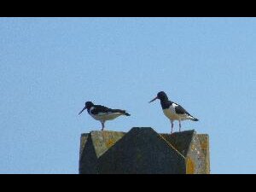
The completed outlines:
[[[185,173],[185,159],[152,128],[132,128],[99,158],[100,173]]]

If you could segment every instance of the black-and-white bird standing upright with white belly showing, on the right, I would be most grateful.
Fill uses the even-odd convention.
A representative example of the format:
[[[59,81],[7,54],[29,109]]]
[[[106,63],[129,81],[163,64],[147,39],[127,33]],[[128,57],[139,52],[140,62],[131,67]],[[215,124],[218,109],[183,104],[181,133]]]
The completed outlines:
[[[160,100],[163,113],[166,115],[168,119],[170,119],[172,124],[172,129],[174,125],[173,124],[174,120],[178,120],[179,131],[181,131],[182,120],[188,120],[188,119],[193,121],[199,120],[193,117],[191,114],[189,114],[189,112],[187,112],[181,105],[177,104],[176,102],[171,102],[164,91],[158,92],[157,96],[154,97],[154,99],[152,99],[150,102],[154,102],[154,100],[156,99]]]

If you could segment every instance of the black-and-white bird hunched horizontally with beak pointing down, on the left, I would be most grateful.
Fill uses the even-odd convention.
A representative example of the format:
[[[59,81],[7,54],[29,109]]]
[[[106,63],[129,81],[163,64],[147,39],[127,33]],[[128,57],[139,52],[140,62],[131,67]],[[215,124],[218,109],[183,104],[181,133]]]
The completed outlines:
[[[107,108],[102,105],[95,105],[93,102],[85,102],[85,106],[79,114],[82,113],[84,109],[87,109],[87,112],[93,119],[101,121],[102,131],[104,130],[107,120],[116,119],[120,115],[131,116],[131,114],[127,113],[125,110]]]

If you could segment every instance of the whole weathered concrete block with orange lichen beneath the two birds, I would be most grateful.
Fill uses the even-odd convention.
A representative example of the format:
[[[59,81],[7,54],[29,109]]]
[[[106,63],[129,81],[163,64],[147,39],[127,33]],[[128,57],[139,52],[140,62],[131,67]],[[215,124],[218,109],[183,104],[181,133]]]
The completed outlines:
[[[150,127],[81,135],[79,173],[210,173],[209,137]]]

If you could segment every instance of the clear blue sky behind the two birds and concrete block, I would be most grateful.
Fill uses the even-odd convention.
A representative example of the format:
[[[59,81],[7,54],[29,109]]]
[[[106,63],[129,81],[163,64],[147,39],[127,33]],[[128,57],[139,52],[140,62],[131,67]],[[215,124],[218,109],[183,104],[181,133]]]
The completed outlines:
[[[1,18],[0,172],[78,173],[84,102],[170,132],[166,91],[210,136],[212,173],[256,173],[256,18]],[[175,130],[178,130],[177,122]]]

